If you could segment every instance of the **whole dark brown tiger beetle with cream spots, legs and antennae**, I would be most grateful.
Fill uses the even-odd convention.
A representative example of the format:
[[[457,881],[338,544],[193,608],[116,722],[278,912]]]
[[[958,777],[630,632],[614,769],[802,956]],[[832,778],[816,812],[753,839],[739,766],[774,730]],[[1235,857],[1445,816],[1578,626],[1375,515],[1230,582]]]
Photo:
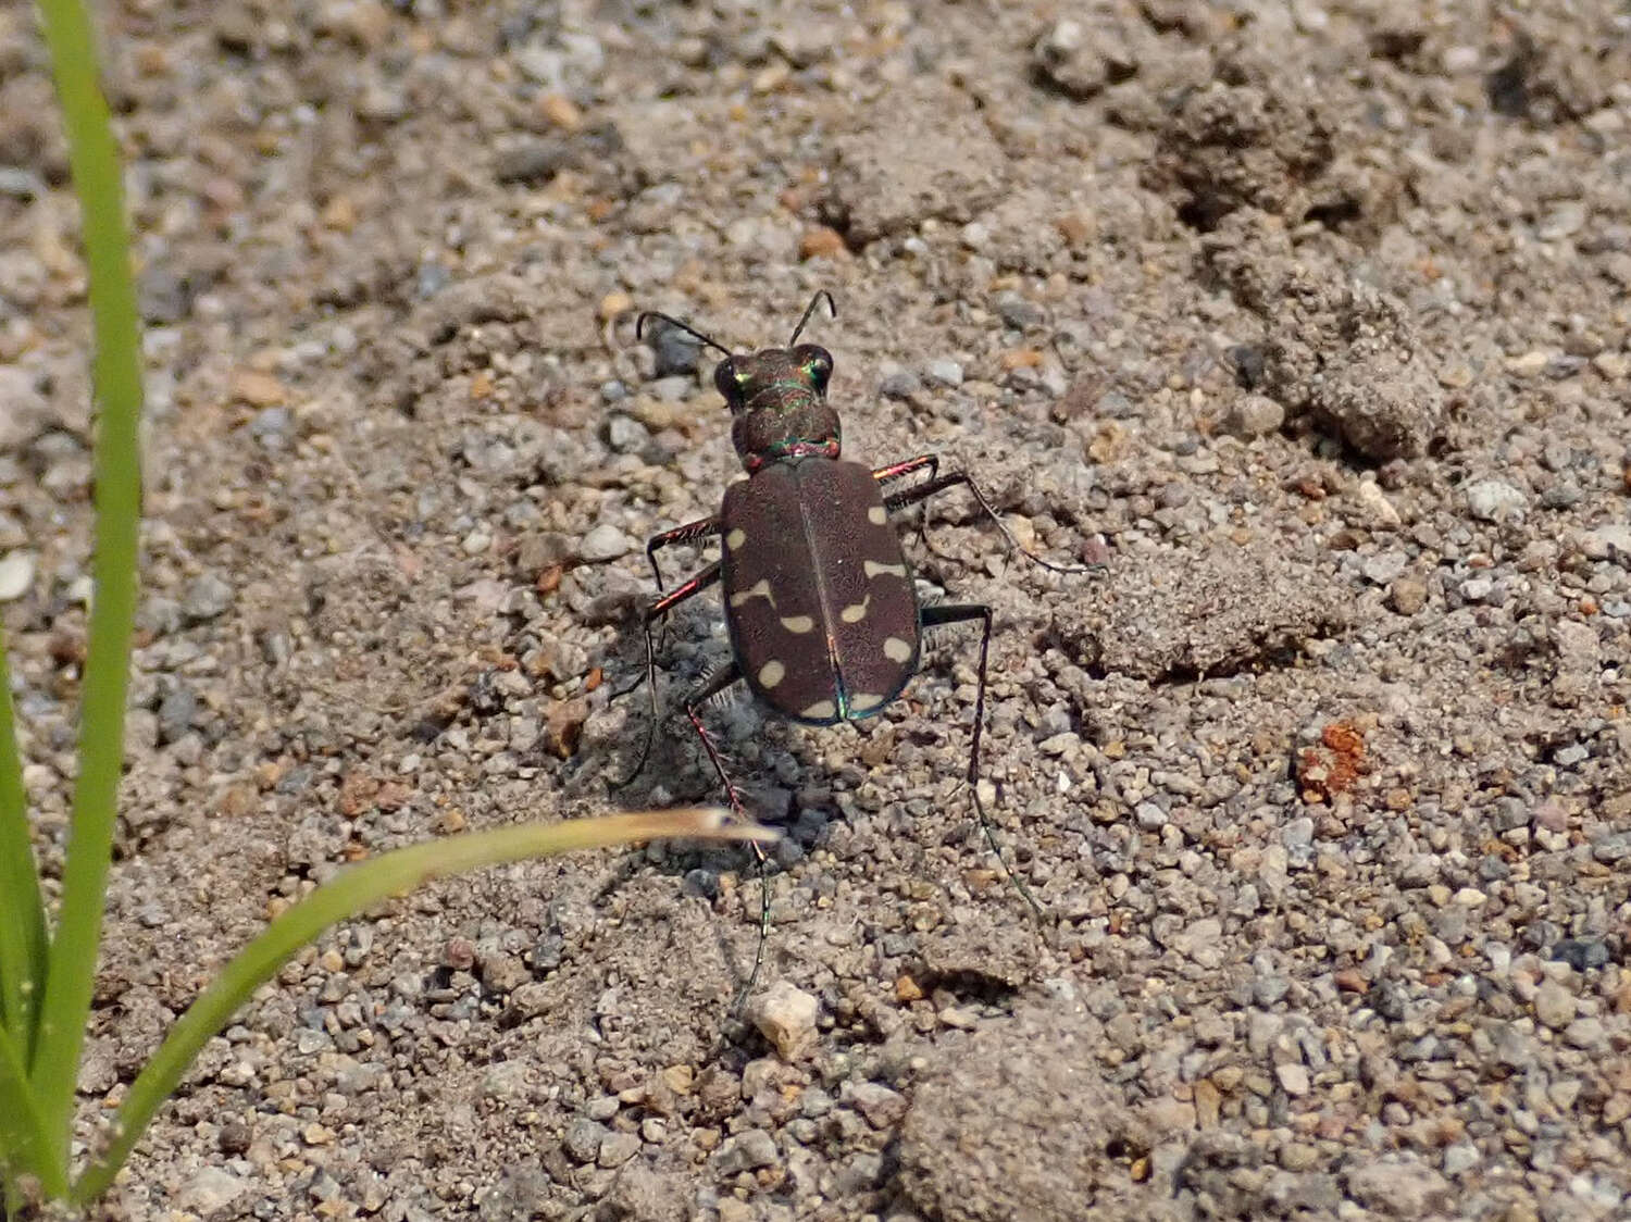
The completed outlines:
[[[656,318],[724,354],[714,370],[714,387],[731,408],[731,442],[747,480],[724,489],[724,503],[713,517],[664,530],[646,543],[646,560],[661,596],[646,609],[643,625],[651,724],[639,762],[621,785],[641,773],[656,742],[657,622],[714,582],[724,592],[732,657],[687,697],[682,708],[739,817],[745,817],[742,799],[703,726],[703,705],[732,684],[745,682],[765,706],[788,721],[804,726],[863,721],[899,697],[917,672],[925,631],[979,622],[980,666],[967,781],[980,827],[1001,863],[979,790],[992,609],[977,602],[922,605],[891,514],[948,488],[967,488],[1008,543],[1028,560],[1055,573],[1086,573],[1090,566],[1055,565],[1028,551],[966,472],[939,473],[938,455],[922,454],[876,470],[840,458],[838,413],[827,401],[832,354],[799,343],[824,300],[829,313],[837,317],[832,294],[824,289],[811,299],[786,348],[758,352],[732,352],[665,313],[646,312],[634,325],[636,339]],[[891,485],[918,472],[926,478],[889,491]],[[670,543],[695,543],[714,535],[721,538],[719,560],[662,594],[657,551]],[[762,884],[760,936],[754,971],[740,997],[747,997],[758,979],[770,933],[765,853],[757,843],[752,848]],[[1008,873],[1006,865],[1003,871]],[[1041,917],[1042,910],[1024,883],[1011,873],[1008,878],[1032,914]]]

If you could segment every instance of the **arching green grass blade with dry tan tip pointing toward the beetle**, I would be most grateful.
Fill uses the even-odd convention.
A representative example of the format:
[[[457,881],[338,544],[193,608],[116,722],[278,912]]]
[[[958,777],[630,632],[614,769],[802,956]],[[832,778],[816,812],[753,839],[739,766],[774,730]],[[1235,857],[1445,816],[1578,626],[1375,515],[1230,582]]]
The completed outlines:
[[[86,1167],[73,1184],[73,1202],[86,1206],[106,1191],[147,1122],[170,1098],[206,1041],[227,1026],[238,1007],[295,951],[329,925],[442,874],[545,853],[661,837],[773,840],[775,832],[754,824],[726,824],[716,811],[651,811],[470,832],[398,848],[343,870],[267,925],[266,932],[245,946],[170,1028],[158,1052],[130,1083],[114,1118],[113,1140],[106,1153]]]

